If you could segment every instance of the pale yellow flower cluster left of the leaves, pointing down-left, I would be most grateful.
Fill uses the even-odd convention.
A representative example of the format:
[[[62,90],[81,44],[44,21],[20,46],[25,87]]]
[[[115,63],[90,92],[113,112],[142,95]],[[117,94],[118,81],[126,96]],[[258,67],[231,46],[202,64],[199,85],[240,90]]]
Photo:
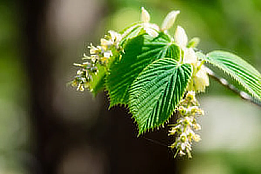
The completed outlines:
[[[122,36],[115,31],[108,31],[108,35],[100,41],[100,46],[93,46],[90,44],[88,48],[90,49],[90,56],[84,54],[82,64],[74,63],[75,66],[80,67],[77,71],[77,75],[71,81],[71,85],[77,87],[77,90],[84,91],[85,89],[90,89],[90,81],[92,81],[92,76],[97,75],[98,67],[100,64],[106,66],[109,59],[113,56],[113,51],[119,50],[119,42]]]

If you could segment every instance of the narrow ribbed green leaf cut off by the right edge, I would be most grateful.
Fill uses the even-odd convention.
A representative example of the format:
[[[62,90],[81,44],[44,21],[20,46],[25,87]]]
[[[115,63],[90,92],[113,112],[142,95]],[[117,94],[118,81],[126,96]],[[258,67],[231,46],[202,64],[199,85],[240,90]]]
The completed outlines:
[[[261,100],[261,74],[242,58],[229,52],[213,51],[206,56],[206,62],[220,68],[238,82],[245,92]]]

